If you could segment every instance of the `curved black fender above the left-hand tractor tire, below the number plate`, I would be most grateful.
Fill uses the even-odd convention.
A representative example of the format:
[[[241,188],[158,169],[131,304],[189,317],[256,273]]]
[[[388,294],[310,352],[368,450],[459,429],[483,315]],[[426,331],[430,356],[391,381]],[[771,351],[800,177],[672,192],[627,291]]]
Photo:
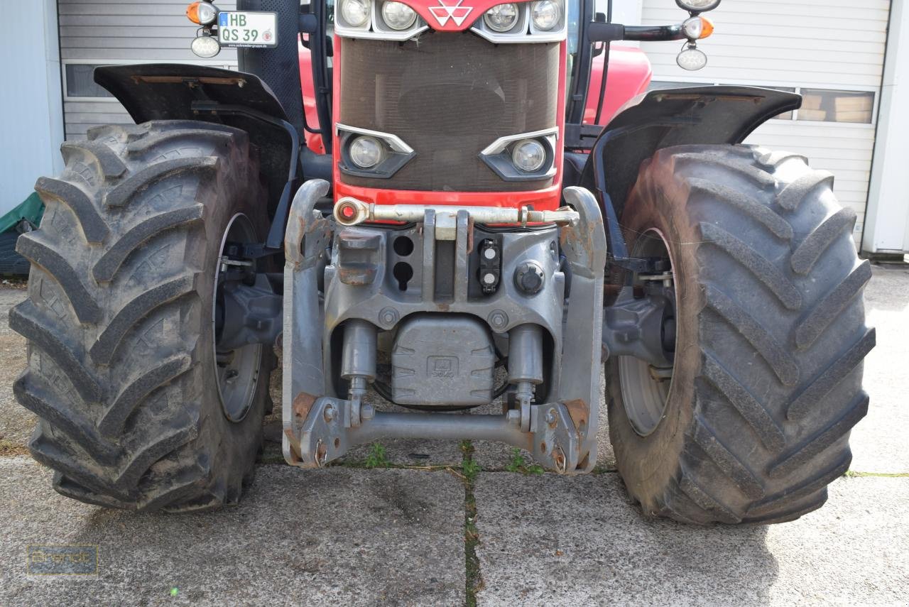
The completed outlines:
[[[268,184],[268,208],[275,211],[288,181],[294,157],[293,139],[281,121],[287,115],[272,90],[256,75],[205,65],[110,65],[95,69],[95,82],[114,95],[142,124],[150,120],[201,120],[243,129],[259,150]],[[274,119],[247,114],[215,114],[194,110],[194,102],[241,106]]]

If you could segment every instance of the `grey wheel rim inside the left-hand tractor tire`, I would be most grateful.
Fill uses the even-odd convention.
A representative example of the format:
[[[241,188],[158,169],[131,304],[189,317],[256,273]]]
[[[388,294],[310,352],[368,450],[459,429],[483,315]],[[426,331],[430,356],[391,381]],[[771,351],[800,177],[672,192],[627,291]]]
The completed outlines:
[[[252,343],[234,350],[219,350],[220,331],[217,326],[220,310],[224,310],[225,274],[234,264],[255,264],[253,261],[226,260],[224,256],[227,243],[255,243],[253,224],[245,214],[235,214],[227,224],[225,234],[218,250],[215,264],[215,296],[212,302],[212,340],[214,342],[215,373],[217,374],[218,398],[225,417],[234,423],[244,420],[249,413],[255,398],[255,389],[259,383],[262,368],[261,343]]]

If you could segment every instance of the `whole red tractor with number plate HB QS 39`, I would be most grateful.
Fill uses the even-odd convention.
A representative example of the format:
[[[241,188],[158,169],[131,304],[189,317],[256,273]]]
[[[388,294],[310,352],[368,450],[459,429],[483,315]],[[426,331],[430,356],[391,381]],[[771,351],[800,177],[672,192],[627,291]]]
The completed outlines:
[[[676,3],[680,24],[626,26],[593,0],[196,2],[193,50],[235,46],[241,72],[99,68],[136,124],[65,143],[38,180],[10,314],[55,489],[235,503],[281,343],[296,466],[404,437],[586,473],[605,393],[646,514],[818,508],[868,406],[855,214],[803,157],[741,144],[797,95],[644,94],[641,55],[610,57],[674,40],[703,66],[720,2]]]

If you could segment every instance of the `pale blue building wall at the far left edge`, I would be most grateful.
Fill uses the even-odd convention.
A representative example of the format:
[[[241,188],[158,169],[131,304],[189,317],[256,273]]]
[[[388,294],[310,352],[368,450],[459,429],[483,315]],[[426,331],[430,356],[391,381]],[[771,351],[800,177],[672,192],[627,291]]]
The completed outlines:
[[[4,2],[0,86],[0,215],[33,192],[35,178],[62,170],[60,64],[55,0]]]

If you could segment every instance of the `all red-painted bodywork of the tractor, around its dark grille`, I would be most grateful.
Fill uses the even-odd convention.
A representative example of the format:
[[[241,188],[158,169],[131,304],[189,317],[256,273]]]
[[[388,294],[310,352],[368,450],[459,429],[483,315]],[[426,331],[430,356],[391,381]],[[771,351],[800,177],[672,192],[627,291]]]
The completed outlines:
[[[406,4],[423,16],[427,23],[440,31],[462,31],[474,24],[479,15],[490,7],[500,4],[501,0],[407,0]],[[445,7],[443,10],[442,7]],[[435,13],[440,16],[436,18]],[[472,10],[466,11],[467,8]],[[466,15],[464,12],[466,11]],[[474,15],[475,11],[475,15]],[[451,14],[451,15],[449,15]],[[460,20],[460,24],[458,23]],[[442,22],[445,22],[444,24]],[[341,54],[343,52],[344,38],[335,35],[335,91],[332,109],[334,115],[339,114],[340,82],[339,70],[343,69]],[[559,137],[564,141],[564,100],[565,100],[565,69],[566,69],[566,43],[561,49],[561,73],[559,77],[559,104],[558,127]],[[609,77],[606,82],[606,95],[603,114],[599,124],[608,124],[618,110],[636,95],[644,93],[650,84],[652,70],[646,55],[634,47],[614,46],[609,60]],[[319,124],[315,110],[315,89],[309,51],[300,46],[300,76],[303,84],[303,101],[306,122],[316,128]],[[590,90],[587,95],[584,110],[584,123],[593,124],[596,114],[596,105],[600,92],[600,83],[603,76],[603,58],[594,58],[591,68]],[[334,137],[334,148],[338,148],[338,141],[334,133],[334,124],[331,128]],[[306,144],[317,154],[325,154],[325,145],[321,135],[306,135]],[[552,210],[560,206],[562,197],[562,169],[563,154],[556,154],[556,174],[553,184],[543,190],[530,192],[419,192],[411,190],[389,190],[367,188],[362,186],[346,185],[341,182],[338,164],[335,162],[335,200],[344,196],[353,196],[358,200],[376,204],[451,204],[458,206],[524,206],[533,205],[538,210]]]

